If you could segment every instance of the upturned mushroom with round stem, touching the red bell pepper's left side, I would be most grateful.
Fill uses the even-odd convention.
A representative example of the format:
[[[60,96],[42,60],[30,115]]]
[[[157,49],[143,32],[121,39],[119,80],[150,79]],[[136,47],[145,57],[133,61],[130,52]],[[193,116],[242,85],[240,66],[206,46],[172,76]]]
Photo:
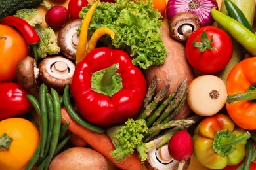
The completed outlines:
[[[39,63],[39,78],[47,86],[58,92],[63,92],[70,84],[75,70],[75,64],[63,56],[51,56]]]

